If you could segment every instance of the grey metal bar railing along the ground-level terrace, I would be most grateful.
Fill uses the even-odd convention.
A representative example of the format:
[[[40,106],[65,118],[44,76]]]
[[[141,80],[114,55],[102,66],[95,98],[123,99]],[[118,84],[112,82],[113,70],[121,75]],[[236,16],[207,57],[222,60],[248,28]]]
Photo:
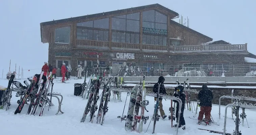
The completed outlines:
[[[95,67],[87,68],[88,74]],[[105,69],[107,76],[256,77],[256,65],[101,66],[100,74]]]

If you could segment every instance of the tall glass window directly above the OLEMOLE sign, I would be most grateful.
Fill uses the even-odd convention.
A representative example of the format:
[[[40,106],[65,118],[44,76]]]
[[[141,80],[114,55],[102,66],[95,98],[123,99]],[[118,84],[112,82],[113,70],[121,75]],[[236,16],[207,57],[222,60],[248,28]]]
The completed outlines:
[[[139,44],[139,12],[112,17],[112,42]]]

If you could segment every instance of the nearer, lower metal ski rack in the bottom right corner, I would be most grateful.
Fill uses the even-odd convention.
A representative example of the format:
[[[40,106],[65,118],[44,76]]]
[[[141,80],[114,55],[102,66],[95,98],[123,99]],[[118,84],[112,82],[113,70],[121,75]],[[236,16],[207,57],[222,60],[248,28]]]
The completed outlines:
[[[223,96],[222,96],[223,97]],[[233,97],[240,97],[240,96],[233,96]],[[227,124],[227,109],[228,107],[230,106],[239,106],[241,108],[248,108],[248,109],[255,109],[256,110],[256,104],[247,104],[247,103],[241,103],[241,102],[234,102],[232,104],[228,104],[225,108],[225,118],[224,118],[224,131],[223,131],[223,134],[225,135],[226,134],[226,124]],[[237,116],[239,117],[239,116]]]

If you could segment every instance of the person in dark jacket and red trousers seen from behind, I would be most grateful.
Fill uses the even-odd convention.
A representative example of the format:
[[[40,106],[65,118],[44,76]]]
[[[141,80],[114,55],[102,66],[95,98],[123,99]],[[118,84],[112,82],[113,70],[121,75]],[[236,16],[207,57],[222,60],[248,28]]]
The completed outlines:
[[[204,84],[202,90],[198,93],[198,100],[200,100],[200,112],[198,115],[198,124],[200,125],[204,114],[205,114],[205,123],[210,125],[211,120],[211,101],[213,99],[212,91]]]

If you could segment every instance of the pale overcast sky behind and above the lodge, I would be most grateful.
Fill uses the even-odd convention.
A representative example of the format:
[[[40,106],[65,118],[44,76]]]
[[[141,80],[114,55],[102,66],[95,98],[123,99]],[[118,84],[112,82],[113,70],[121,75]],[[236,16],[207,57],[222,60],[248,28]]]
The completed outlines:
[[[41,22],[155,3],[188,16],[189,27],[213,41],[248,43],[249,52],[256,54],[255,0],[2,0],[0,73],[4,69],[5,77],[10,59],[11,70],[17,63],[18,68],[33,71],[48,61],[48,43],[41,43]]]

